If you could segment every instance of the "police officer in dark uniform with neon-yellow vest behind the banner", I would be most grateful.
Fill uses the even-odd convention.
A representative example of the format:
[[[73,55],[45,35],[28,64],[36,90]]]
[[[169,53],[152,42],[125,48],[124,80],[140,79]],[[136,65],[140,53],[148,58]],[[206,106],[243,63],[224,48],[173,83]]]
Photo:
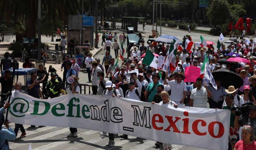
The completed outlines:
[[[48,97],[54,98],[58,97],[60,94],[60,89],[62,86],[61,84],[58,84],[58,79],[56,78],[58,76],[57,73],[53,72],[51,73],[51,80],[47,82],[46,91],[48,92]],[[63,88],[63,87],[62,87]]]

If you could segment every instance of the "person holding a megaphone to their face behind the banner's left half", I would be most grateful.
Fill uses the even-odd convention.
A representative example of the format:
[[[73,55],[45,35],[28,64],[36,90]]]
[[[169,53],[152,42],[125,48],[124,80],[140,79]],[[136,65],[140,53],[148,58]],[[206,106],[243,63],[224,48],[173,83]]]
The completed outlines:
[[[79,78],[76,77],[76,75],[71,75],[70,77],[67,78],[67,82],[70,84],[67,86],[67,94],[75,94],[75,93],[80,93],[80,87],[77,86],[77,81],[79,80]],[[77,129],[74,127],[70,127],[70,134],[68,135],[68,137],[77,137]]]

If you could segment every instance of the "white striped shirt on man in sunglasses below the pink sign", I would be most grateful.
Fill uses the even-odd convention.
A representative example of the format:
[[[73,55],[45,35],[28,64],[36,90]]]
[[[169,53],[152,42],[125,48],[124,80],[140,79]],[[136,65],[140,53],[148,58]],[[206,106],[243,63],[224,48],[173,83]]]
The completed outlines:
[[[201,89],[193,89],[191,91],[190,99],[193,99],[193,107],[207,108],[207,91],[204,87]]]

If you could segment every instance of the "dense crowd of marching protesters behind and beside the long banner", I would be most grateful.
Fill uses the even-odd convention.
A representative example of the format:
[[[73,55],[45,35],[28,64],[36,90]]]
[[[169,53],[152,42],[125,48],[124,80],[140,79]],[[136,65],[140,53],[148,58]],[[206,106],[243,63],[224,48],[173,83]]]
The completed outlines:
[[[111,34],[111,33],[110,33]],[[229,149],[240,150],[241,147],[246,147],[246,150],[253,150],[256,146],[256,48],[252,39],[245,42],[240,40],[238,42],[231,42],[227,47],[221,43],[220,49],[215,49],[212,45],[211,48],[194,47],[191,50],[178,50],[176,54],[175,70],[171,75],[163,72],[161,68],[155,69],[151,66],[143,64],[141,57],[150,50],[152,53],[159,56],[166,56],[168,54],[169,45],[159,44],[157,42],[148,42],[141,45],[134,44],[130,51],[130,58],[125,58],[121,65],[118,65],[115,70],[115,62],[118,59],[119,44],[117,43],[117,35],[114,34],[114,44],[111,43],[112,34],[103,34],[102,38],[105,41],[105,55],[100,63],[100,59],[94,59],[91,53],[85,59],[86,71],[88,73],[88,80],[92,83],[92,91],[94,95],[108,95],[127,97],[129,99],[143,101],[148,103],[159,103],[161,105],[173,105],[174,107],[190,106],[201,108],[216,108],[216,109],[229,109],[230,115],[230,129],[229,129]],[[107,38],[108,37],[108,38]],[[186,38],[190,38],[189,35]],[[125,42],[124,34],[119,35],[121,43]],[[103,44],[103,42],[102,42]],[[146,45],[146,46],[145,46]],[[110,55],[110,48],[115,50],[115,58]],[[222,50],[221,50],[222,49]],[[203,79],[198,77],[194,82],[184,82],[185,68],[188,66],[202,67],[205,58],[208,58],[211,71],[219,69],[226,69],[233,71],[239,75],[243,85],[235,88],[230,85],[227,89],[222,86],[220,80],[215,80],[217,90],[211,86],[203,83]],[[230,57],[242,57],[248,59],[250,63],[236,62],[225,63],[219,59]],[[29,61],[28,61],[29,62]],[[104,66],[103,66],[104,63]],[[45,95],[39,89],[41,81],[47,81],[47,72],[43,71],[43,66],[39,66],[38,72],[31,73],[31,79],[27,81],[28,94],[36,98],[57,97],[64,90],[67,93],[80,93],[78,84],[79,66],[74,61],[69,60],[69,56],[65,57],[61,65],[63,71],[63,82],[72,76],[75,82],[63,87],[59,84],[60,77],[54,68],[49,69],[48,74],[51,79],[44,85]],[[104,70],[105,69],[105,70]],[[113,70],[113,71],[112,71]],[[44,75],[45,74],[45,75]],[[39,80],[37,77],[40,76]],[[1,84],[8,82],[10,72],[5,70],[5,75],[0,77]],[[236,81],[234,81],[236,82]],[[58,86],[56,86],[58,85]],[[15,84],[15,89],[20,91],[20,83]],[[2,91],[3,92],[3,91]],[[22,91],[20,91],[22,92]],[[44,96],[44,97],[43,97]],[[250,103],[250,105],[248,104]],[[248,112],[243,113],[240,110],[243,104],[248,104]],[[208,107],[209,106],[209,107]],[[240,112],[240,114],[239,114]],[[1,125],[1,124],[0,124]],[[16,126],[16,124],[15,124]],[[6,126],[7,127],[7,126]],[[31,126],[34,127],[34,126]],[[241,129],[239,129],[241,127]],[[17,135],[18,129],[21,129],[22,136],[26,135],[24,128],[17,124],[15,133]],[[239,134],[239,132],[241,132]],[[77,129],[70,128],[68,136],[77,137]],[[107,135],[101,132],[101,135]],[[114,134],[109,133],[109,143],[106,146],[114,147]],[[120,135],[121,138],[127,139],[127,135]],[[1,139],[1,138],[0,138]],[[0,140],[1,141],[1,140]],[[162,143],[156,142],[156,147]],[[163,144],[165,150],[171,149],[170,144]]]

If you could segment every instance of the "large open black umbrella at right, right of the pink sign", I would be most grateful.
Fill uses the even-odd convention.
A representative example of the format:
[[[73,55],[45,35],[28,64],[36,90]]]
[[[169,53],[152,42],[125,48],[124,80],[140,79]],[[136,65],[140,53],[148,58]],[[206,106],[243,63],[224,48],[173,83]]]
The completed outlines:
[[[227,69],[219,69],[212,72],[214,80],[220,80],[221,86],[228,89],[229,86],[234,86],[235,88],[240,88],[244,81],[243,79],[233,71]]]

